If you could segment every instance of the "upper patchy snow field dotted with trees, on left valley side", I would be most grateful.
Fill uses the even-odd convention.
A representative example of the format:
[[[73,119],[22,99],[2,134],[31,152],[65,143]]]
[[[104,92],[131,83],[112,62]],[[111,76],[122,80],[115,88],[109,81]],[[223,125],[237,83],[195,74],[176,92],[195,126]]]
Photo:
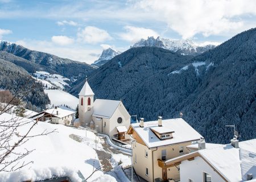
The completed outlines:
[[[69,86],[69,84],[65,82],[65,80],[70,81],[69,78],[66,78],[61,75],[50,74],[48,72],[43,71],[35,72],[34,75],[36,76],[36,80],[41,81],[43,83],[43,86],[47,85],[48,88],[52,88],[53,85],[59,87],[60,89],[64,89],[65,85]]]

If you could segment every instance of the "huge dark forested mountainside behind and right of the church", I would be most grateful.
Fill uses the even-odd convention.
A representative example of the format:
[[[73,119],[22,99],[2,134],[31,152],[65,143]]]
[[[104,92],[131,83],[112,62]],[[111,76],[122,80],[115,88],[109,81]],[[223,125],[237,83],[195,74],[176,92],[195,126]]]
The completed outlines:
[[[256,137],[255,68],[254,28],[196,57],[129,49],[94,71],[89,84],[97,98],[122,99],[130,114],[150,121],[183,112],[207,142],[229,143],[233,130],[225,125],[236,125],[240,140]]]

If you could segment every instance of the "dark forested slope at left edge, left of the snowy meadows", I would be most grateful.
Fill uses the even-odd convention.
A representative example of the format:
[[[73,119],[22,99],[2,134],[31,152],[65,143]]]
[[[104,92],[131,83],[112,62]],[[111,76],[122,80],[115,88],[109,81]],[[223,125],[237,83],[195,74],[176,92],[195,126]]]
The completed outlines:
[[[42,84],[36,82],[23,68],[9,61],[0,59],[0,89],[9,89],[11,93],[19,93],[26,102],[27,109],[40,111],[49,104]]]

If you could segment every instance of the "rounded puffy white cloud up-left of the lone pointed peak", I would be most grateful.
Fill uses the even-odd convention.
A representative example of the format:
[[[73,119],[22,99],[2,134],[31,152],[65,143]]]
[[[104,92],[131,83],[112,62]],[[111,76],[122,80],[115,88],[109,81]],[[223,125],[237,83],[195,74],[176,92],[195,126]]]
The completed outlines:
[[[85,27],[84,29],[80,30],[77,33],[77,37],[80,41],[89,44],[101,43],[106,40],[112,39],[112,37],[106,30],[91,26]]]

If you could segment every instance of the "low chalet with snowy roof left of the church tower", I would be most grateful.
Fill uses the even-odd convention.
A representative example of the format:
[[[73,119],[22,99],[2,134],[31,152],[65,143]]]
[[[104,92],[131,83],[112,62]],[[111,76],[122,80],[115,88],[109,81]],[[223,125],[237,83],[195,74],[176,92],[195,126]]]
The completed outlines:
[[[55,124],[71,125],[73,123],[75,111],[55,107],[33,115],[30,119],[36,121],[50,121]]]

